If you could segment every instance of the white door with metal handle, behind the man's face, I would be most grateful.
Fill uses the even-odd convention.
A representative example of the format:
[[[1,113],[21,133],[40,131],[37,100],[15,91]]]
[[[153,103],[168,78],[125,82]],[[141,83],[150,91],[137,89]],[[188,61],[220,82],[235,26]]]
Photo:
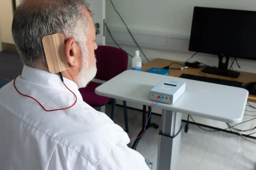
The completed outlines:
[[[93,23],[95,26],[95,29],[99,26],[99,34],[96,38],[96,43],[98,45],[105,45],[105,9],[106,9],[106,1],[105,0],[87,0],[87,2],[90,4],[93,12],[94,12],[94,19]],[[96,30],[97,32],[97,30]]]

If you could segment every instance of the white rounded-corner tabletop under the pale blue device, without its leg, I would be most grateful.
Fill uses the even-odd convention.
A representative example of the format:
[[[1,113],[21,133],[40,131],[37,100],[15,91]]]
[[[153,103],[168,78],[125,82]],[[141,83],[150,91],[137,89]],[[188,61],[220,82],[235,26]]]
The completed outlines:
[[[186,90],[173,105],[158,103],[155,107],[227,123],[242,121],[248,91],[238,87],[127,70],[97,87],[95,93],[150,106],[149,91],[164,79],[186,82]]]

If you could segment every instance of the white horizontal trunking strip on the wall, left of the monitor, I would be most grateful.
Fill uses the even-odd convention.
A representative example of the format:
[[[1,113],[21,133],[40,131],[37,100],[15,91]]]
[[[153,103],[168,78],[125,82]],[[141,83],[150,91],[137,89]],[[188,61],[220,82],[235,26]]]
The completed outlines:
[[[126,28],[109,26],[109,30],[119,45],[136,46]],[[130,31],[143,48],[188,52],[189,35],[142,29],[130,29]],[[114,43],[108,31],[106,31],[106,43]]]

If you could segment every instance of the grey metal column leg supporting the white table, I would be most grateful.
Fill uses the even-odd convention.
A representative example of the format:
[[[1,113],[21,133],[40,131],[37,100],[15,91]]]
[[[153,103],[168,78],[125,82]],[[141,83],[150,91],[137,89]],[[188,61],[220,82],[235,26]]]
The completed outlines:
[[[157,170],[177,170],[181,137],[182,113],[162,111],[159,132]]]

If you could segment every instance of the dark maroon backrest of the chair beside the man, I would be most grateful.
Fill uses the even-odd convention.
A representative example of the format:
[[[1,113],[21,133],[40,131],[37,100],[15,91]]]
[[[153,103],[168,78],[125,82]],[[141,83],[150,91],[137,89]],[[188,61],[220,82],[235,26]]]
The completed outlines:
[[[128,55],[120,48],[98,46],[95,56],[97,60],[96,79],[108,81],[127,70]]]

